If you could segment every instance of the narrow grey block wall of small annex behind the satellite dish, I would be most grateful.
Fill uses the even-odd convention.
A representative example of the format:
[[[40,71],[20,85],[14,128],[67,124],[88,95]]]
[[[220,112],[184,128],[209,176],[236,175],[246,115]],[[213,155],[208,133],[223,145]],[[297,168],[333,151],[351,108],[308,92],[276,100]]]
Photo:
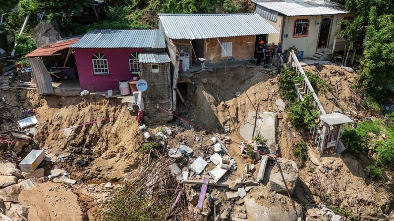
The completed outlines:
[[[159,73],[152,73],[150,63],[141,63],[141,78],[148,83],[148,89],[143,92],[145,104],[145,120],[148,123],[166,122],[172,120],[157,105],[172,113],[172,88],[169,63],[159,64]]]

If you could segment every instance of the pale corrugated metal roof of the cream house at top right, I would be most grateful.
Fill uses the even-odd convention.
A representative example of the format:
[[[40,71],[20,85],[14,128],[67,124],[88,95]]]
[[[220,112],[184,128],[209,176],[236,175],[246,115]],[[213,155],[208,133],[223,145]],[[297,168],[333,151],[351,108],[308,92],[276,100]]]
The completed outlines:
[[[325,0],[252,0],[287,16],[347,14],[340,5]]]

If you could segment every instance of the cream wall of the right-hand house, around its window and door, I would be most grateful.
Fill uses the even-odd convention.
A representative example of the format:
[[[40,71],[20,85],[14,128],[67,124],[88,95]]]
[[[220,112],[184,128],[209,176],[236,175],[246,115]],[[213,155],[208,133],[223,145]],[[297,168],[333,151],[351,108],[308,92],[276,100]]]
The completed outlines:
[[[295,45],[298,50],[304,51],[304,58],[311,57],[317,51],[317,44],[319,41],[319,33],[320,33],[320,23],[323,18],[331,18],[331,32],[329,37],[329,43],[326,51],[333,48],[334,38],[338,38],[338,26],[337,23],[340,19],[347,15],[331,15],[331,16],[291,16],[284,17],[284,27],[283,27],[283,48],[287,49],[288,47]],[[294,32],[294,22],[297,19],[309,19],[309,30],[307,36],[293,36]],[[319,24],[317,24],[319,23]],[[287,35],[287,38],[284,37]]]

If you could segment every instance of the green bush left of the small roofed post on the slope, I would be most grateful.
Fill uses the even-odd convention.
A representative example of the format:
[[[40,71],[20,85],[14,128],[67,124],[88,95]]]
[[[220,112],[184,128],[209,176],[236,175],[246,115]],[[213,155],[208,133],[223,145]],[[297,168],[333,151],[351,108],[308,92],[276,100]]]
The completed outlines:
[[[319,115],[319,110],[312,105],[313,102],[313,94],[309,92],[304,95],[304,101],[292,103],[289,107],[290,121],[297,126],[311,127],[316,125],[315,119]]]

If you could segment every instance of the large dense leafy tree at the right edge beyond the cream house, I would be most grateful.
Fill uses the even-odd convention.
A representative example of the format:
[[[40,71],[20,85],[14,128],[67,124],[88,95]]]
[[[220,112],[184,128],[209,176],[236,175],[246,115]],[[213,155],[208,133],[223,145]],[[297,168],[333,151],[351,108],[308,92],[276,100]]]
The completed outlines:
[[[377,8],[372,7],[366,38],[356,87],[380,98],[394,81],[394,15],[378,16]]]

